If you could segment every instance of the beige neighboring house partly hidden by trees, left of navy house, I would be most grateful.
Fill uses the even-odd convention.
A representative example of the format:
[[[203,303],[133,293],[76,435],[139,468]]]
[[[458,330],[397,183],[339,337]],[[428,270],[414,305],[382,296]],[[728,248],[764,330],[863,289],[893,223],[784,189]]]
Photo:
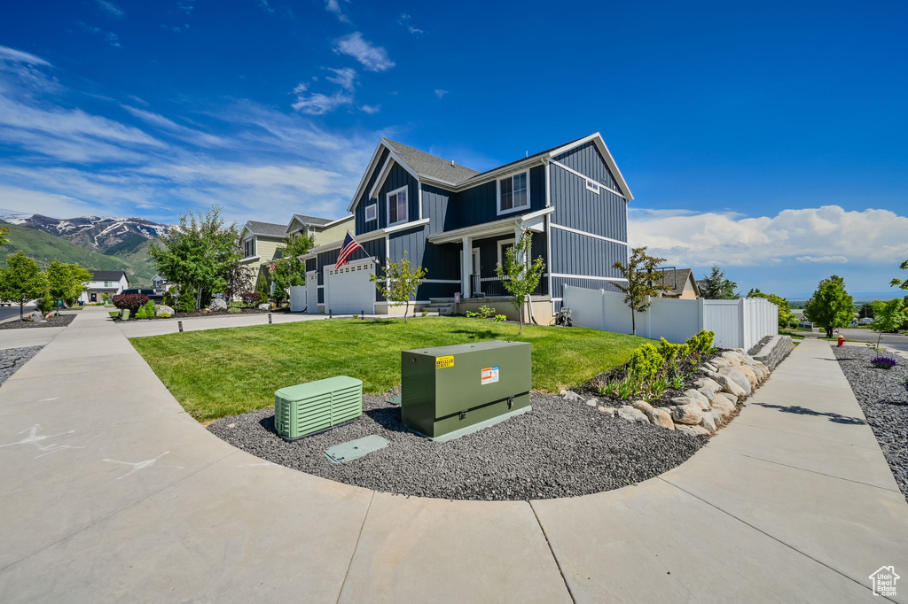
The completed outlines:
[[[325,244],[336,239],[343,239],[347,229],[352,227],[352,216],[331,220],[294,214],[289,224],[274,224],[249,220],[240,232],[242,264],[251,265],[254,269],[250,288],[255,287],[259,275],[267,270],[276,258],[281,258],[281,241],[288,236],[309,235],[315,245]]]

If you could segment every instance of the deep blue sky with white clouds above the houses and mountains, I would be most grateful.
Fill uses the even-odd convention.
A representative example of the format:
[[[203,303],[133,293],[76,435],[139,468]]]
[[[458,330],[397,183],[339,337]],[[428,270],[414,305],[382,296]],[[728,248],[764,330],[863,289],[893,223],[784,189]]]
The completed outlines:
[[[908,8],[6,3],[0,208],[340,217],[380,136],[478,170],[602,132],[631,243],[746,291],[908,258]]]

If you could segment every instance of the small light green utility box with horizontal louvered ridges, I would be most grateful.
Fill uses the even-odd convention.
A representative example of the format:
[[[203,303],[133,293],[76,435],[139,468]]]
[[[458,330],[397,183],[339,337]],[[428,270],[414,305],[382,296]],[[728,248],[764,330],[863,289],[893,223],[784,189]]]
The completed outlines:
[[[287,386],[274,393],[274,429],[295,441],[362,414],[362,380],[346,375]]]

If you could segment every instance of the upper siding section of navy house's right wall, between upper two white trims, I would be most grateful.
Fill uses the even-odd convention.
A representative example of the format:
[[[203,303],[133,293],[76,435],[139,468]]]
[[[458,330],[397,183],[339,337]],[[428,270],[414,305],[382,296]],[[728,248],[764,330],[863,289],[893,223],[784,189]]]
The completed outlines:
[[[627,241],[627,201],[605,189],[587,190],[586,180],[551,166],[552,222],[571,229]]]

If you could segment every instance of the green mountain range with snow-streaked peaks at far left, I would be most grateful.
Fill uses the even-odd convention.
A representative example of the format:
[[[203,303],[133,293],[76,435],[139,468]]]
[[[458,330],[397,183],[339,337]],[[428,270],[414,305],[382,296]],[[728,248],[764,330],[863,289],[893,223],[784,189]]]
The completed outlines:
[[[150,286],[154,267],[148,247],[167,228],[142,218],[55,219],[3,209],[0,223],[10,229],[10,242],[0,246],[0,260],[21,249],[42,265],[56,259],[94,270],[123,269],[133,287]]]

